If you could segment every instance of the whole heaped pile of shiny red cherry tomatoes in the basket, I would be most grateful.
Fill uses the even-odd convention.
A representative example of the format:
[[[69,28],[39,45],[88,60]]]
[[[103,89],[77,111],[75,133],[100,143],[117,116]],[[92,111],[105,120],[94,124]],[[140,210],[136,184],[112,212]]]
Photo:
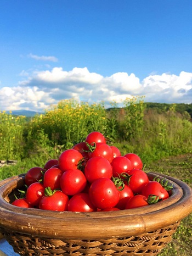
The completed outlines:
[[[13,205],[43,210],[97,212],[143,207],[170,196],[161,182],[149,181],[140,157],[121,155],[105,136],[93,131],[58,159],[33,167],[25,191]]]

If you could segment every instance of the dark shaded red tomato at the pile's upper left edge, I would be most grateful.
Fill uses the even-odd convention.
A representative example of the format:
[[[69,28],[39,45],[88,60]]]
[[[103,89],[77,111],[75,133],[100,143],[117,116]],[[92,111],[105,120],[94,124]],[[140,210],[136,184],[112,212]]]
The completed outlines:
[[[42,171],[43,168],[41,167],[32,167],[30,170],[27,171],[25,174],[25,183],[27,186],[30,186],[32,183],[38,182],[42,179]]]

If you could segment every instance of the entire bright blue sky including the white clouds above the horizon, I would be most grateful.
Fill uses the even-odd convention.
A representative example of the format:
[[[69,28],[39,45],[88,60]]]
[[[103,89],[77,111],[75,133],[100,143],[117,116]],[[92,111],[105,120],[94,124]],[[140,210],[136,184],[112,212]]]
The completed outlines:
[[[191,13],[191,0],[2,0],[0,110],[191,103]]]

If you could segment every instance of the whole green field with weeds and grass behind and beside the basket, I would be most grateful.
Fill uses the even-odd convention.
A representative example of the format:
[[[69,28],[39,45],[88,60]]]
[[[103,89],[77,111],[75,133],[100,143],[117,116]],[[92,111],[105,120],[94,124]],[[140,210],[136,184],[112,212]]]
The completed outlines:
[[[106,110],[103,104],[71,99],[29,119],[0,111],[0,160],[18,161],[0,168],[0,180],[43,166],[95,130],[104,133],[122,155],[138,154],[146,171],[176,177],[192,187],[192,123],[191,112],[185,110],[189,106],[149,108],[142,97],[126,99],[123,104],[118,108],[112,102]],[[191,222],[191,215],[181,222],[161,256],[191,255]]]

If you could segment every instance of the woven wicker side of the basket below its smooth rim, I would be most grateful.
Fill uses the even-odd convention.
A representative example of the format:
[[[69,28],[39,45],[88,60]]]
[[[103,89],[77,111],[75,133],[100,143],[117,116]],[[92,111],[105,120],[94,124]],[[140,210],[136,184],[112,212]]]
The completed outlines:
[[[39,239],[18,232],[1,229],[14,251],[20,255],[157,255],[171,241],[179,222],[164,229],[148,232],[140,236],[117,237],[99,240],[56,240]]]

